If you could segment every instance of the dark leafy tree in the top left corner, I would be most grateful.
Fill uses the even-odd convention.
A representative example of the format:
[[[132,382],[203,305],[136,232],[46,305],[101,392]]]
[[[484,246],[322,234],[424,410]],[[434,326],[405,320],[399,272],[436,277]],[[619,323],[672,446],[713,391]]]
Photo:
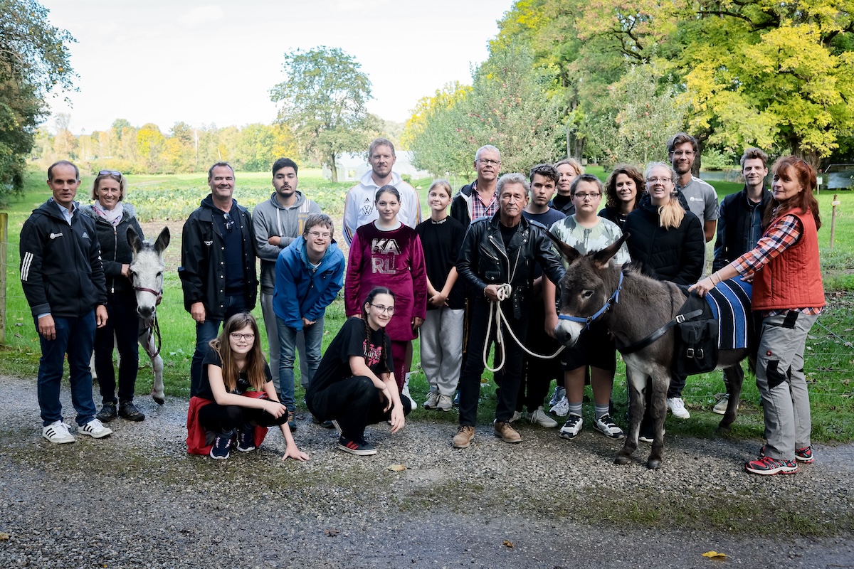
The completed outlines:
[[[26,156],[54,88],[72,90],[71,35],[50,26],[34,0],[0,0],[0,200],[20,191]]]

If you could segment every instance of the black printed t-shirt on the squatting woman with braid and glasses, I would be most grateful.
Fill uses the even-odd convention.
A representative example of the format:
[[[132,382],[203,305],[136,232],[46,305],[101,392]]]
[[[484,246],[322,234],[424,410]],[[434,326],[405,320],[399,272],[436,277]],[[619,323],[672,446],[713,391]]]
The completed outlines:
[[[375,374],[386,373],[386,370],[395,369],[391,359],[391,350],[383,353],[385,345],[391,345],[387,340],[384,328],[371,330],[371,337],[366,338],[366,324],[361,318],[348,318],[347,322],[338,331],[335,339],[326,348],[323,359],[314,378],[306,389],[306,398],[310,398],[316,392],[321,392],[336,381],[341,381],[353,376],[350,369],[350,356],[366,357],[369,369]],[[383,340],[385,340],[383,342]],[[385,363],[383,364],[383,359]]]

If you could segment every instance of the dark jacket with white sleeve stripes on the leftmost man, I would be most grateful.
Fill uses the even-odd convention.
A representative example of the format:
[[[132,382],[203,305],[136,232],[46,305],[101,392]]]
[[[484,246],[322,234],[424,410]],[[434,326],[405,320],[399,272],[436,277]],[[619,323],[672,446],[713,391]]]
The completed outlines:
[[[20,229],[20,284],[33,317],[77,318],[107,305],[95,224],[77,202],[74,210],[69,225],[50,199]]]

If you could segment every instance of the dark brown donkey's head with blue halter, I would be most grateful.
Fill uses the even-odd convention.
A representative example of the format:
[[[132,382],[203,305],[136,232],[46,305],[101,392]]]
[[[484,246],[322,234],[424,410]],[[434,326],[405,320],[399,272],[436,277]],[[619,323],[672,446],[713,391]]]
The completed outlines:
[[[555,242],[561,257],[569,264],[564,278],[560,281],[560,302],[558,313],[563,316],[587,318],[593,316],[605,306],[614,291],[607,284],[605,276],[611,268],[611,258],[617,254],[628,235],[611,243],[601,251],[582,255],[574,247],[547,234]],[[578,341],[587,324],[559,320],[555,336],[564,345],[573,346]]]

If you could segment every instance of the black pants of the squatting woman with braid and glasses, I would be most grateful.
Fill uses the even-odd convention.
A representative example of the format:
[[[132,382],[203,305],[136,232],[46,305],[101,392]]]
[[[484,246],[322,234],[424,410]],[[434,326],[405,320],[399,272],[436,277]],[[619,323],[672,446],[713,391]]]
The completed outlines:
[[[353,375],[336,381],[306,399],[308,410],[319,421],[338,421],[343,438],[358,441],[365,436],[365,427],[391,419],[391,409],[383,411],[379,390],[364,375]],[[409,415],[412,404],[401,397],[403,415]]]

